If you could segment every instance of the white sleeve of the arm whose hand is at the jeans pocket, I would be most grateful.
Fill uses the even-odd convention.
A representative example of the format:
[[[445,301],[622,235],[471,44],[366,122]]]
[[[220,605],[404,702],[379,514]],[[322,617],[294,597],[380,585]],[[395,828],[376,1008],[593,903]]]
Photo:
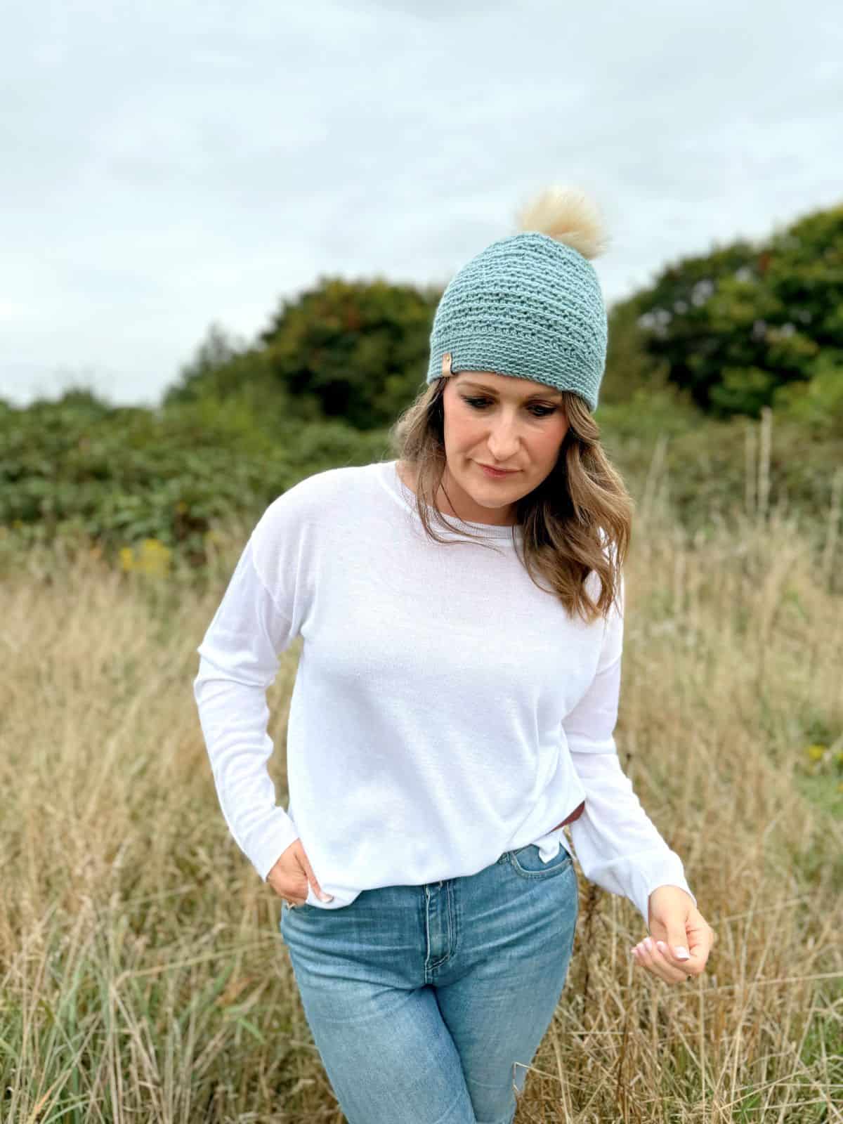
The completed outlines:
[[[265,526],[265,519],[259,529]],[[284,613],[254,561],[255,533],[246,544],[197,649],[193,696],[210,758],[219,805],[243,853],[265,879],[298,831],[275,804],[266,769],[272,738],[266,732],[266,688],[278,673],[278,655],[298,633],[299,616]]]

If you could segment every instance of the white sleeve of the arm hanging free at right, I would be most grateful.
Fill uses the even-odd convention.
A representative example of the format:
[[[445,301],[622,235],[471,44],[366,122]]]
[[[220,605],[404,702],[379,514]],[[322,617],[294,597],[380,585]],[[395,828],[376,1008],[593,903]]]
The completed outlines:
[[[607,618],[595,678],[562,727],[583,788],[586,807],[570,825],[582,873],[628,898],[650,925],[649,899],[659,886],[678,886],[697,905],[679,855],[649,818],[623,772],[615,744],[620,698],[624,582]]]

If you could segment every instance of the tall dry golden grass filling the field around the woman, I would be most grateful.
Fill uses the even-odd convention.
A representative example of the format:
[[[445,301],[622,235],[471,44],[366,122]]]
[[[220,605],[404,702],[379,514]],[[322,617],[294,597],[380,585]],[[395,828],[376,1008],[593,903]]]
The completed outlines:
[[[807,744],[843,750],[840,511],[812,541],[771,509],[756,436],[745,495],[692,541],[654,459],[627,570],[619,752],[718,941],[662,984],[631,962],[632,905],[581,879],[519,1124],[843,1120],[843,831],[834,777],[827,800],[800,779]],[[191,691],[247,533],[203,591],[87,553],[7,566],[3,1122],[343,1120]],[[296,660],[269,696],[280,800]]]

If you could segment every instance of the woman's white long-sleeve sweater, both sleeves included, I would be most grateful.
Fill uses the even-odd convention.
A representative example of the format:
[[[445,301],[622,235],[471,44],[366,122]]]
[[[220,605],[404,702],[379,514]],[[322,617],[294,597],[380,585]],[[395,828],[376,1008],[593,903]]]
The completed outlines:
[[[473,874],[528,843],[549,861],[566,847],[551,828],[584,799],[570,832],[587,879],[645,924],[658,886],[696,905],[617,755],[623,586],[587,625],[531,580],[519,527],[448,519],[453,532],[435,524],[448,542],[430,542],[395,461],[316,473],[261,516],[193,682],[234,840],[265,879],[300,837],[334,895],[310,888],[307,901],[336,909],[364,889]],[[299,635],[282,808],[266,688]]]

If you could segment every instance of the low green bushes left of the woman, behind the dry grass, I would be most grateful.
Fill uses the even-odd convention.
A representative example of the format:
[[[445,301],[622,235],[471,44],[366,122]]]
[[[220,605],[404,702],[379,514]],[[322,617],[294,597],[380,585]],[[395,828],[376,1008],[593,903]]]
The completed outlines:
[[[273,438],[245,402],[6,407],[0,525],[24,538],[81,534],[115,555],[154,540],[201,565],[217,522],[256,518],[303,477],[369,463],[384,446],[384,434],[339,422],[288,425]]]

